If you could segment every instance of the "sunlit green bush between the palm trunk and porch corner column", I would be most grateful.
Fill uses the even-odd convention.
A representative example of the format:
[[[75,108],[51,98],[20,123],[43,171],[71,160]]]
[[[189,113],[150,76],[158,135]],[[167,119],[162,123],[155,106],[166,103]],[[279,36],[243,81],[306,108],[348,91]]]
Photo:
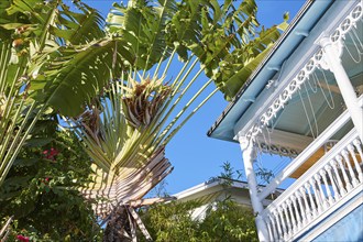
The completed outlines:
[[[199,206],[194,201],[175,201],[153,206],[140,213],[151,237],[160,242],[257,241],[251,209],[227,198],[211,205],[204,220],[195,220],[190,211]]]

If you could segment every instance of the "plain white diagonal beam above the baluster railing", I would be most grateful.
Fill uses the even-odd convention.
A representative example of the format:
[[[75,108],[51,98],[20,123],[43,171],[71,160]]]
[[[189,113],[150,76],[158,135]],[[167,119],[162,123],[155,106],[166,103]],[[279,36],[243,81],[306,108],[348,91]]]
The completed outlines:
[[[363,95],[359,98],[360,107],[363,107]],[[336,132],[350,120],[349,111],[345,110],[332,122],[308,147],[306,147],[290,164],[288,164],[260,194],[262,201],[272,194],[289,175],[300,167],[314,153],[316,153]]]

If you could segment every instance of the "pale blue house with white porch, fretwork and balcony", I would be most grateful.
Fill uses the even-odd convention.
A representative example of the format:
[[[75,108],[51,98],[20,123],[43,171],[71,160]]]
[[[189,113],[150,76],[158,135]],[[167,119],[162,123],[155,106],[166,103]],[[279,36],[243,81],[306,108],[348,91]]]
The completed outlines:
[[[363,240],[362,58],[363,1],[309,0],[208,132],[241,146],[261,241]],[[292,162],[257,189],[262,153]]]

